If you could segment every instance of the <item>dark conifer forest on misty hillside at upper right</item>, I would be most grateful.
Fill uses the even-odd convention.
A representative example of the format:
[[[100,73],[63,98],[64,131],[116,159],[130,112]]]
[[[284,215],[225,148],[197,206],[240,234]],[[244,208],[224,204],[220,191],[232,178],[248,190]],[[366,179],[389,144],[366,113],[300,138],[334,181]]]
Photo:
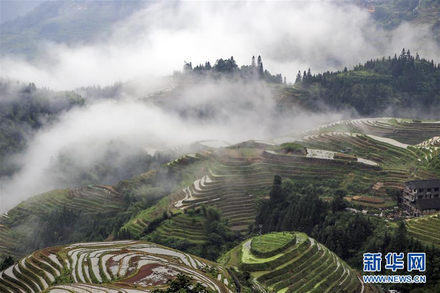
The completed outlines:
[[[295,87],[300,88],[300,98],[322,109],[353,108],[361,115],[386,111],[419,118],[437,118],[440,112],[440,64],[417,53],[413,56],[409,49],[359,63],[352,70],[313,75],[310,68],[299,71]]]

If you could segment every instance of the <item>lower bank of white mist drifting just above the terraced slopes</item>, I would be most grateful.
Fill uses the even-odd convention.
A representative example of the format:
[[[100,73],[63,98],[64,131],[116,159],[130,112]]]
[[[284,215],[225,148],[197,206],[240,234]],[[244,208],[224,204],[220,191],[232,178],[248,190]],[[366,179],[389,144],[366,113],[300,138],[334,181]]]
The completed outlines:
[[[72,182],[75,174],[69,168],[53,172],[53,161],[60,153],[75,158],[75,166],[87,169],[115,141],[124,142],[120,146],[122,153],[128,151],[128,146],[165,149],[202,140],[234,144],[293,135],[347,115],[299,111],[283,114],[276,110],[272,92],[264,82],[225,79],[208,79],[179,88],[179,95],[166,106],[132,99],[73,108],[62,114],[57,123],[38,131],[27,150],[14,157],[22,169],[10,179],[3,178],[1,211],[37,193],[77,187],[59,185],[60,178],[64,178],[61,182]]]

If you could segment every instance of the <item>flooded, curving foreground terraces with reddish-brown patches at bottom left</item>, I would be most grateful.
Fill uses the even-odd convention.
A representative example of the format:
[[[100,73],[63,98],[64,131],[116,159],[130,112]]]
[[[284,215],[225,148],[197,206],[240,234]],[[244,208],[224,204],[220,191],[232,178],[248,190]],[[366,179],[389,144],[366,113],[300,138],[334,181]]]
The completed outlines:
[[[222,281],[227,272],[217,264],[131,240],[76,243],[36,251],[0,272],[0,291],[138,292],[164,287],[178,273],[190,275],[216,292],[230,292]],[[57,277],[66,274],[72,283],[57,284]],[[103,282],[106,284],[99,285]]]

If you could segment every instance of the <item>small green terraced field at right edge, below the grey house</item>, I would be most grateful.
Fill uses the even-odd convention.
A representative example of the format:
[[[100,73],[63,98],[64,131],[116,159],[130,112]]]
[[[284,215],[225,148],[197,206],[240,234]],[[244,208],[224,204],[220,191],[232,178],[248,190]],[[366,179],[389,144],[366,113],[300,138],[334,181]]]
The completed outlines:
[[[440,248],[440,213],[408,220],[406,227],[408,235]]]

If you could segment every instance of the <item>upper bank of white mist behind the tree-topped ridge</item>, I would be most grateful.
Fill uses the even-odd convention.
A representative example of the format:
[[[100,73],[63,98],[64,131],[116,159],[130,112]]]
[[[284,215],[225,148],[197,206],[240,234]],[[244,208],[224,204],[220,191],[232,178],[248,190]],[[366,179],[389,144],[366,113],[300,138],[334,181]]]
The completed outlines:
[[[2,56],[1,75],[64,90],[169,75],[183,61],[214,64],[234,56],[237,63],[249,64],[252,55],[261,55],[272,74],[293,82],[298,70],[351,68],[403,47],[438,59],[428,27],[403,23],[384,31],[350,2],[164,1],[148,3],[93,43],[41,40],[32,62]]]

